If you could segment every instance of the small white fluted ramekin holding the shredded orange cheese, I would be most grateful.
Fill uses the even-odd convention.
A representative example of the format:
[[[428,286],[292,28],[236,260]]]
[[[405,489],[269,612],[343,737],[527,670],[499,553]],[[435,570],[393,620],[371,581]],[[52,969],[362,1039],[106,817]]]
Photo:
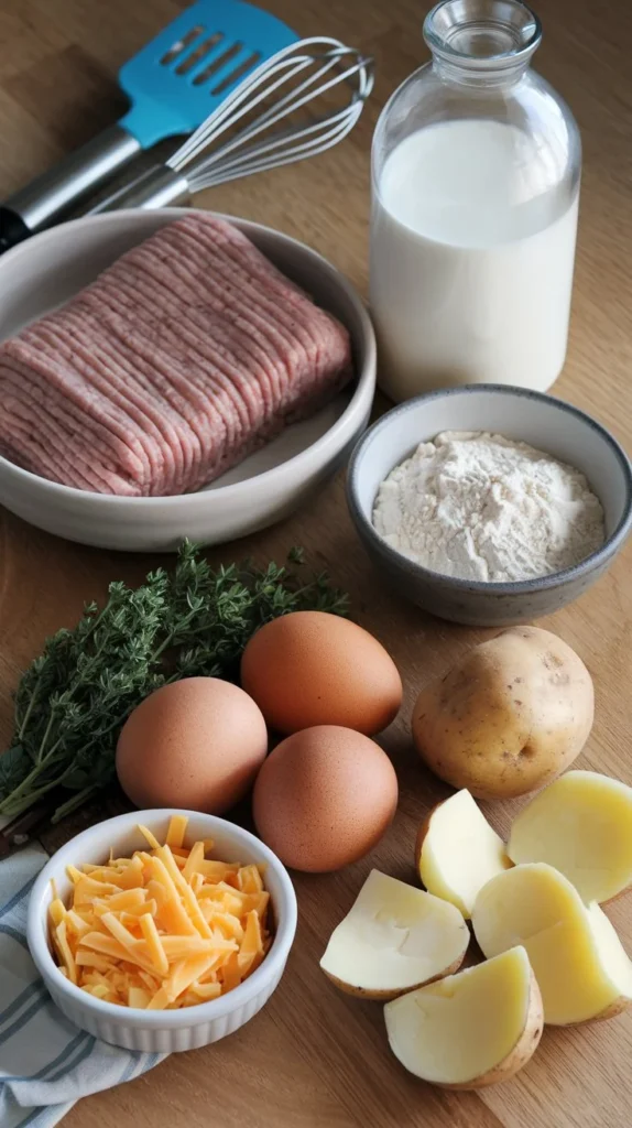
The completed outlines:
[[[53,959],[48,940],[47,913],[52,900],[51,879],[60,897],[68,900],[71,882],[68,865],[101,863],[109,856],[125,857],[130,851],[145,848],[136,829],[142,822],[164,841],[172,813],[189,819],[187,843],[213,838],[214,856],[222,861],[265,863],[265,883],[270,893],[275,936],[265,960],[256,971],[226,995],[180,1011],[141,1011],[105,1003],[81,990],[62,976]],[[190,1050],[216,1042],[239,1030],[261,1007],[278,985],[296,931],[296,897],[285,870],[275,854],[241,827],[212,814],[196,811],[132,811],[90,827],[62,846],[39,873],[28,906],[27,940],[53,1001],[71,1022],[97,1038],[126,1049],[149,1054]]]

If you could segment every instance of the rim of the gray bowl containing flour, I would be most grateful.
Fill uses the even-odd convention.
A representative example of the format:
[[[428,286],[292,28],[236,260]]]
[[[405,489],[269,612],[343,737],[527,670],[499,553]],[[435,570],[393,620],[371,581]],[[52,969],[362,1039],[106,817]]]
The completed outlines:
[[[463,580],[460,576],[445,575],[443,572],[435,572],[431,569],[425,567],[422,564],[418,564],[416,561],[410,559],[409,556],[404,556],[403,553],[399,553],[395,548],[392,548],[391,545],[383,539],[383,537],[380,536],[373,522],[366,518],[357,497],[359,492],[358,483],[362,474],[363,459],[367,456],[372,443],[380,435],[380,433],[388,430],[392,423],[406,412],[409,412],[421,404],[429,403],[433,399],[448,398],[451,396],[477,395],[480,393],[522,399],[535,399],[538,403],[544,404],[550,409],[560,411],[575,416],[575,418],[577,418],[581,424],[588,426],[599,437],[606,447],[608,447],[615,458],[615,461],[618,464],[625,485],[625,502],[621,520],[611,535],[606,537],[599,548],[595,549],[595,552],[590,553],[589,556],[586,556],[577,564],[571,565],[571,567],[562,569],[559,572],[550,572],[546,575],[535,576],[532,580],[513,580],[504,582]],[[401,461],[402,459],[399,459],[394,462],[391,469],[399,466]],[[599,501],[603,505],[600,496]],[[427,579],[428,581],[434,582],[440,580],[443,583],[449,584],[455,590],[463,592],[480,592],[481,594],[492,596],[529,594],[535,591],[546,591],[559,588],[560,585],[566,585],[567,583],[581,579],[593,572],[596,567],[605,565],[623,546],[630,531],[632,530],[632,464],[621,443],[617,442],[606,426],[599,423],[587,412],[582,411],[580,407],[576,407],[575,404],[569,404],[566,399],[559,399],[557,396],[551,396],[545,391],[535,391],[531,388],[520,388],[515,385],[465,384],[454,388],[438,388],[434,391],[427,391],[420,396],[415,396],[412,399],[407,399],[385,412],[384,415],[382,415],[372,426],[368,428],[367,431],[365,431],[363,435],[360,435],[349,459],[347,473],[347,504],[354,522],[357,527],[362,527],[365,536],[371,540],[372,545],[379,550],[379,553],[394,565],[399,567],[403,565],[407,570],[413,571],[421,579]]]

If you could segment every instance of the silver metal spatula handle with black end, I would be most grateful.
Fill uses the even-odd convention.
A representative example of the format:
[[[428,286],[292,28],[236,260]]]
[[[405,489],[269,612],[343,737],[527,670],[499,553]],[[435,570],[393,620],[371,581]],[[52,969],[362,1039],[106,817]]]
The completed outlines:
[[[141,149],[121,125],[112,125],[0,205],[0,253],[50,227],[70,204],[112,176]]]

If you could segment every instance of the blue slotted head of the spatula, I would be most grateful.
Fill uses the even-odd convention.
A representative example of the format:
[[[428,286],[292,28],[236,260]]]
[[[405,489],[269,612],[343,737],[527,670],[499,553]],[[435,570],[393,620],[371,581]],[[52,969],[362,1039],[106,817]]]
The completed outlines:
[[[143,149],[190,133],[246,74],[297,38],[243,0],[197,0],[122,68],[132,108],[121,124]]]

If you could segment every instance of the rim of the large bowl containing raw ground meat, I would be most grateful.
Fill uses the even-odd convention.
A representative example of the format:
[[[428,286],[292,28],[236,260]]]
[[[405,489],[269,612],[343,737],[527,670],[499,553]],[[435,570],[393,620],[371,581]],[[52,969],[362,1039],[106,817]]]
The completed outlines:
[[[152,497],[127,497],[119,494],[95,493],[90,490],[78,490],[75,486],[66,486],[61,482],[53,482],[50,478],[44,478],[39,474],[34,474],[32,470],[27,470],[24,467],[18,466],[17,462],[12,462],[9,458],[5,458],[3,455],[0,455],[0,473],[10,474],[23,479],[30,486],[30,488],[39,488],[44,493],[59,499],[77,501],[79,504],[82,502],[91,502],[96,505],[117,504],[130,510],[133,510],[134,506],[137,508],[139,505],[153,505],[154,508],[160,505],[173,509],[178,504],[181,505],[184,500],[206,499],[210,496],[221,497],[222,501],[230,503],[231,501],[238,500],[240,494],[251,490],[253,482],[257,482],[258,488],[269,487],[270,491],[274,491],[277,481],[285,477],[287,474],[291,476],[300,475],[304,464],[311,461],[314,456],[320,455],[320,452],[326,450],[327,447],[336,444],[337,440],[345,434],[349,428],[353,429],[355,416],[358,409],[362,408],[365,397],[368,395],[368,405],[373,400],[377,372],[377,345],[375,331],[368,316],[366,305],[353,282],[350,282],[350,280],[340,270],[338,270],[333,263],[329,262],[324,255],[321,255],[320,252],[314,250],[313,247],[310,247],[306,243],[302,243],[300,239],[295,239],[293,236],[286,235],[284,231],[278,231],[276,228],[267,227],[265,223],[257,223],[255,220],[243,219],[239,215],[229,215],[225,212],[215,212],[207,208],[155,208],[151,210],[152,215],[172,215],[173,220],[179,215],[190,213],[211,214],[215,215],[217,219],[226,220],[229,223],[234,223],[234,226],[242,230],[249,238],[252,232],[255,232],[255,235],[261,233],[264,236],[272,236],[279,244],[294,249],[297,255],[304,255],[306,258],[310,258],[322,272],[322,274],[329,274],[330,281],[333,285],[338,287],[339,290],[345,293],[357,315],[366,355],[364,363],[358,367],[355,388],[342,413],[338,416],[336,422],[328,428],[324,434],[322,434],[314,442],[310,443],[309,447],[305,447],[296,455],[287,458],[284,462],[279,462],[278,466],[273,466],[268,470],[262,470],[260,474],[253,474],[251,477],[244,478],[242,482],[233,482],[230,485],[219,486],[215,490],[201,487],[193,493],[166,494],[164,496]],[[2,265],[5,265],[6,262],[9,262],[9,265],[11,265],[12,261],[20,254],[23,256],[28,255],[35,240],[37,240],[37,246],[41,246],[44,241],[54,241],[54,239],[59,237],[60,231],[66,233],[70,237],[70,241],[72,241],[72,236],[78,227],[89,227],[92,224],[109,224],[112,227],[116,227],[121,219],[130,219],[132,217],[139,218],[139,215],[142,214],[146,214],[146,212],[139,211],[134,208],[125,208],[119,211],[105,212],[99,215],[80,215],[78,219],[60,223],[56,227],[34,235],[30,239],[25,240],[24,243],[17,244],[2,256]],[[345,328],[348,329],[348,326],[345,325]]]

